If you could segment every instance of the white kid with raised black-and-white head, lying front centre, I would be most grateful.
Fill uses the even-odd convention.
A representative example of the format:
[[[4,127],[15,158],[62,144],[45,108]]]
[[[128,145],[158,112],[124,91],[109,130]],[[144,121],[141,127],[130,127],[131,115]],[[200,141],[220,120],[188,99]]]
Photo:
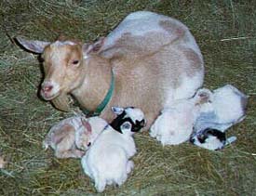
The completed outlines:
[[[95,181],[98,192],[106,185],[121,186],[134,163],[129,159],[136,153],[132,135],[144,125],[144,114],[137,108],[113,108],[117,117],[107,125],[82,158],[85,173]],[[115,128],[115,129],[114,129]]]

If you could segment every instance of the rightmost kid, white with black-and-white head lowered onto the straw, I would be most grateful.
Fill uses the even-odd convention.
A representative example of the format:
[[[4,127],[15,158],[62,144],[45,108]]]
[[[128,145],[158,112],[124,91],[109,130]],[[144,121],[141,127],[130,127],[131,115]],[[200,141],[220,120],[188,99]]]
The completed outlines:
[[[208,150],[221,150],[236,141],[225,137],[226,130],[241,122],[246,115],[248,96],[233,85],[224,85],[213,91],[211,110],[201,112],[190,141]]]

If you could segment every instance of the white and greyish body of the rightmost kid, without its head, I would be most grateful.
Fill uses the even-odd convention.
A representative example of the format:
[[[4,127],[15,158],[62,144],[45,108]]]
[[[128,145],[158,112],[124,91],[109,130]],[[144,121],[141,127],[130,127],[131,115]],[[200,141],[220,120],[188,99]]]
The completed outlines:
[[[246,115],[248,96],[233,85],[224,85],[213,91],[211,110],[200,113],[195,123],[195,133],[207,128],[224,132],[241,122]]]

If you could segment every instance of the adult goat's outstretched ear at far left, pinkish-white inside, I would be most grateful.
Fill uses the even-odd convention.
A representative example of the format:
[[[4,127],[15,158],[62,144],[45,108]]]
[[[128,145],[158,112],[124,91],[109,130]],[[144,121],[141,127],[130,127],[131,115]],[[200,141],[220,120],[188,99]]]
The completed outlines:
[[[25,40],[20,36],[16,37],[15,40],[20,46],[23,46],[25,49],[30,52],[34,52],[37,54],[43,53],[45,47],[49,45],[49,42],[37,41],[37,40]]]

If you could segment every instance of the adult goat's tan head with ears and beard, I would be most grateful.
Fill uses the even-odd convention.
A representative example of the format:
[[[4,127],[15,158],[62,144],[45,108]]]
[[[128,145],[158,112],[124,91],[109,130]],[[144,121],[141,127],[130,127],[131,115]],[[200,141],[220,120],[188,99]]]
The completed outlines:
[[[66,111],[67,94],[81,85],[86,74],[82,74],[87,66],[91,52],[98,52],[103,44],[103,38],[96,43],[81,44],[74,41],[58,40],[53,43],[29,41],[16,38],[19,44],[27,50],[40,54],[43,61],[45,79],[41,85],[40,94],[46,100],[53,100],[54,105]],[[63,101],[66,103],[63,104]]]

